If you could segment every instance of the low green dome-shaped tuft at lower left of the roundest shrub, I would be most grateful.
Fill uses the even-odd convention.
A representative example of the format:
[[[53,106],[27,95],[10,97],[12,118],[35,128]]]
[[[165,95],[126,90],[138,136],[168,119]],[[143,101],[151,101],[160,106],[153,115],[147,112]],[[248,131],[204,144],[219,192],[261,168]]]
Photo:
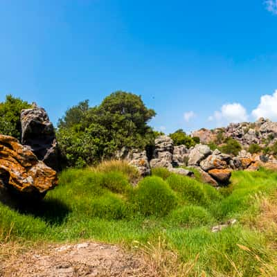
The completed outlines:
[[[116,195],[105,194],[93,199],[87,212],[93,217],[105,218],[106,220],[121,220],[129,214],[130,210],[123,199]]]

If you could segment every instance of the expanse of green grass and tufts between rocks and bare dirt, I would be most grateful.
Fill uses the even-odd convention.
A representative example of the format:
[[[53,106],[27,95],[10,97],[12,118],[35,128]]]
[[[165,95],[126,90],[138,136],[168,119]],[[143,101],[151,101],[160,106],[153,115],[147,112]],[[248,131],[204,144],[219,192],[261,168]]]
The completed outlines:
[[[267,247],[267,235],[248,224],[259,213],[261,197],[276,191],[276,172],[233,172],[229,188],[216,190],[189,177],[163,177],[165,172],[133,188],[132,170],[105,168],[62,172],[60,185],[39,204],[10,208],[0,203],[0,242],[8,233],[14,241],[92,239],[127,246],[135,240],[155,244],[161,237],[183,262],[199,253],[195,271],[207,276],[237,276],[230,260],[241,276],[258,276],[258,261],[237,244],[265,260],[276,255]],[[211,232],[231,218],[238,224]]]

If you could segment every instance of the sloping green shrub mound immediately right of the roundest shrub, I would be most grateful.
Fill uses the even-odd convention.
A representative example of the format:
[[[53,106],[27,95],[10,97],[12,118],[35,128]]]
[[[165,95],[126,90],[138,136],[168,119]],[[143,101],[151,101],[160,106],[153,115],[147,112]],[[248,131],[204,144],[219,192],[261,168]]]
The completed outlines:
[[[172,190],[181,195],[185,204],[206,205],[209,203],[208,196],[203,189],[203,184],[190,177],[171,175],[167,179]]]

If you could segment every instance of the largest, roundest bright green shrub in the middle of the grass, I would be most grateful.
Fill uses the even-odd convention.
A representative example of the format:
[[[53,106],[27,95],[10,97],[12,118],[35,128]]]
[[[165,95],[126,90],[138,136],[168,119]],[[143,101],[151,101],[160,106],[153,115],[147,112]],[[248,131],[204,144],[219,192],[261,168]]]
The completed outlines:
[[[177,206],[175,193],[159,177],[146,177],[140,181],[132,198],[134,206],[143,215],[167,215]]]

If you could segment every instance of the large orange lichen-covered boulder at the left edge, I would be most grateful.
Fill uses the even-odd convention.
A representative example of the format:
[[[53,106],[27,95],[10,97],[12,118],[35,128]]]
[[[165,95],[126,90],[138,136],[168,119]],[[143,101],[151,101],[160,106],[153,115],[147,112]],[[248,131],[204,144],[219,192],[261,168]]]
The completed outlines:
[[[0,134],[0,187],[28,197],[43,197],[57,186],[57,174],[12,136]]]

